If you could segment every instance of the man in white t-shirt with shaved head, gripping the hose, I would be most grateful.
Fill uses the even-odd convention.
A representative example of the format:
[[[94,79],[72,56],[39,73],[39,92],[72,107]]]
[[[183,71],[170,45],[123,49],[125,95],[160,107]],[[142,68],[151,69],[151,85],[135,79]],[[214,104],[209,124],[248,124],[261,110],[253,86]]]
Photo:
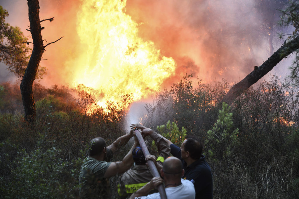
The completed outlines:
[[[184,175],[181,161],[176,157],[169,157],[163,163],[161,169],[161,176],[164,178],[164,187],[167,198],[169,199],[195,199],[195,189],[192,182],[181,179]],[[159,193],[147,195],[152,189],[155,189],[159,184],[163,183],[160,177],[154,177],[152,180],[137,190],[129,199],[150,199],[161,198]],[[145,196],[147,195],[147,196]]]

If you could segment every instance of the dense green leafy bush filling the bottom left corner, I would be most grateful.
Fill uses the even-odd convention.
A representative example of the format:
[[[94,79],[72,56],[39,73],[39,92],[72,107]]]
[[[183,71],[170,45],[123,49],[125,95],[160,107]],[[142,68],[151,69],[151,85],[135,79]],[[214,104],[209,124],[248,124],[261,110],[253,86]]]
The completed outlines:
[[[7,147],[9,142],[1,143]],[[77,176],[82,159],[67,162],[59,157],[60,150],[55,147],[44,148],[42,142],[38,149],[17,152],[16,159],[7,165],[10,181],[0,177],[1,195],[4,198],[74,198],[78,194]],[[10,145],[16,149],[17,146]],[[9,154],[4,154],[9,158]],[[71,169],[72,168],[72,169]]]

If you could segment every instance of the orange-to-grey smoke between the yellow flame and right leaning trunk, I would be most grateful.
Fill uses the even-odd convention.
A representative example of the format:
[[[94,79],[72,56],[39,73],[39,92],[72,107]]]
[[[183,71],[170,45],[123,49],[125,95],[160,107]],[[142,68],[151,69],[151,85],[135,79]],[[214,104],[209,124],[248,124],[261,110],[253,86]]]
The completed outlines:
[[[270,56],[264,18],[273,16],[261,13],[255,2],[132,0],[127,1],[126,12],[140,23],[143,38],[175,59],[178,67],[173,79],[193,73],[204,81],[232,82]],[[273,6],[269,9],[278,13]]]

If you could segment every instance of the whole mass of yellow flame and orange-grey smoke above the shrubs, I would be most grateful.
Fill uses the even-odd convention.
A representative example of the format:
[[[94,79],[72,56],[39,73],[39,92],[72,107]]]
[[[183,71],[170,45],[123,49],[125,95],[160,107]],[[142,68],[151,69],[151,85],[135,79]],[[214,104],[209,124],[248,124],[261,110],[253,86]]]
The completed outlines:
[[[31,41],[26,1],[8,2],[2,5],[10,13],[7,22]],[[44,45],[63,36],[43,54],[40,64],[48,74],[40,83],[96,90],[99,105],[127,94],[133,101],[146,99],[186,74],[205,84],[222,78],[233,84],[269,57],[269,41],[260,32],[264,16],[252,1],[39,3],[40,19],[55,17],[54,23],[42,22]]]

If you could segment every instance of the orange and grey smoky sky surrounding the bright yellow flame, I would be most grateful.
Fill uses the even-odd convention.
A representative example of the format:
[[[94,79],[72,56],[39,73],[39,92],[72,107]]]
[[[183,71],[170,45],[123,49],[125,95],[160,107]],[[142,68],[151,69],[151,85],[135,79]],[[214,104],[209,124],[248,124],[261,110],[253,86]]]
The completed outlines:
[[[29,25],[27,1],[0,2],[9,13],[6,22],[19,26],[30,41],[30,34],[26,31]],[[94,8],[99,9],[100,1],[90,2],[94,4],[90,8],[91,13]],[[269,33],[274,36],[274,51],[283,44],[283,40],[277,38],[277,33],[282,30],[276,28],[275,24],[273,27],[267,24],[269,18],[277,17],[277,14],[273,16],[274,8],[268,5],[266,7],[274,11],[263,12],[254,0],[122,2],[126,2],[123,13],[137,24],[138,37],[145,42],[152,42],[161,54],[159,56],[175,61],[173,71],[163,71],[167,74],[165,78],[160,77],[158,86],[161,87],[172,85],[185,74],[193,74],[193,77],[202,79],[204,83],[225,79],[232,85],[254,70],[254,66],[260,66],[269,58]],[[104,1],[101,5],[105,4]],[[45,27],[42,30],[45,44],[63,36],[57,43],[49,45],[43,54],[42,58],[47,60],[42,60],[41,65],[48,69],[48,74],[40,80],[42,85],[74,85],[76,70],[80,71],[84,67],[79,62],[84,58],[78,59],[87,51],[78,30],[79,24],[83,23],[83,15],[89,12],[88,9],[83,11],[84,6],[85,1],[80,0],[40,0],[40,19],[55,17],[51,23],[42,22]],[[89,16],[89,20],[95,19]],[[86,29],[93,30],[94,27],[88,26]],[[290,62],[290,59],[281,61],[265,78],[274,74],[285,77],[289,73]],[[109,70],[111,66],[104,67]],[[14,80],[14,75],[0,63],[0,82]]]

